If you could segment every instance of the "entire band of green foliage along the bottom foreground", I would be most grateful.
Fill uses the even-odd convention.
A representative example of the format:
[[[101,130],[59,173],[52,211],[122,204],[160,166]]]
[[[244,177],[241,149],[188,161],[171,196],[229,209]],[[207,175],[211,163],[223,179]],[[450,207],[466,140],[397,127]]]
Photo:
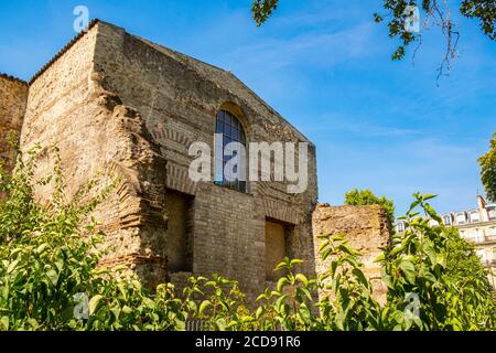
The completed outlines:
[[[301,260],[285,258],[276,268],[281,278],[255,302],[218,275],[190,278],[181,295],[171,284],[152,292],[125,267],[98,266],[104,235],[88,215],[118,181],[96,179],[68,202],[57,150],[54,172],[41,180],[34,180],[36,151],[0,182],[9,192],[0,202],[0,331],[186,330],[192,321],[215,331],[494,330],[495,302],[473,246],[416,212],[439,220],[432,195],[416,195],[406,232],[377,259],[385,304],[345,234],[321,236],[323,274],[308,278],[298,271]],[[52,203],[42,205],[34,190],[47,184]],[[87,317],[76,314],[82,298]]]

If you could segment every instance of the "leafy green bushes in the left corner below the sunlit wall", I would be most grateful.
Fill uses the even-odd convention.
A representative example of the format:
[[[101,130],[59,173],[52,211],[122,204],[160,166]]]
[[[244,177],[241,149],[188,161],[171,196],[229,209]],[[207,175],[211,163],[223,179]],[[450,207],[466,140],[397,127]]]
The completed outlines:
[[[56,148],[54,172],[34,180],[35,148],[20,156],[13,176],[2,173],[0,190],[0,330],[165,330],[184,323],[184,301],[170,285],[153,297],[122,268],[98,268],[101,234],[88,214],[115,186],[98,180],[71,203]],[[34,189],[52,184],[52,203],[34,199]],[[93,195],[93,196],[90,196]],[[76,319],[75,297],[89,301],[88,320]],[[184,324],[183,324],[184,325]]]

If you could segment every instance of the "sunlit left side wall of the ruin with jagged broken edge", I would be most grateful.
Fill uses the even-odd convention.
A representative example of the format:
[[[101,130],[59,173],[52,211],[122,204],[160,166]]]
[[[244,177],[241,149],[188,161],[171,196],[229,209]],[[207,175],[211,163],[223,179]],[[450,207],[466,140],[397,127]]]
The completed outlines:
[[[97,32],[93,25],[35,76],[21,146],[23,150],[35,143],[43,147],[37,175],[52,172],[50,147],[57,146],[68,199],[98,175],[106,175],[108,183],[120,180],[96,212],[107,235],[103,265],[129,265],[154,285],[166,278],[165,257],[153,252],[141,229],[150,222],[166,226],[162,190],[154,189],[164,184],[165,161],[139,113],[101,88],[93,61]],[[53,185],[37,190],[45,202],[52,193]]]

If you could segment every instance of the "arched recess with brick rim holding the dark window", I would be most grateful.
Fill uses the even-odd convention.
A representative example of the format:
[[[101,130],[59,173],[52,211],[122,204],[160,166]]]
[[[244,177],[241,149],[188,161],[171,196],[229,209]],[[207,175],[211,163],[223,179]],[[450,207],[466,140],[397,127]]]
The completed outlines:
[[[215,184],[233,189],[242,193],[248,193],[248,124],[242,109],[234,103],[224,103],[216,113],[215,133]],[[229,167],[229,161],[234,158],[224,153],[226,147],[231,142],[238,142],[244,152],[240,152],[240,162]],[[222,150],[218,150],[222,146]],[[237,154],[237,152],[236,152]],[[231,170],[231,172],[229,172]]]

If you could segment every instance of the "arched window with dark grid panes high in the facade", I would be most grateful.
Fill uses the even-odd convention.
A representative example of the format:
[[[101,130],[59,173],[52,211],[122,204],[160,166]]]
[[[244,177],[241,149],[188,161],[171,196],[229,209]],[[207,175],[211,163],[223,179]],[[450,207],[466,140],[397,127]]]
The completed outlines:
[[[217,122],[216,122],[216,141],[217,137],[220,140],[222,136],[222,151],[217,151],[216,147],[216,156],[215,156],[215,183],[217,185],[226,186],[233,190],[238,190],[240,192],[247,192],[247,178],[246,178],[246,170],[247,170],[247,159],[246,154],[239,156],[240,161],[236,168],[233,169],[233,174],[227,171],[226,174],[226,164],[237,156],[235,152],[234,156],[226,156],[224,151],[226,150],[226,146],[228,146],[230,142],[239,142],[242,148],[246,151],[246,135],[245,130],[239,122],[238,118],[236,118],[231,113],[227,110],[219,110],[217,114]],[[220,148],[220,142],[218,141],[218,148]],[[245,172],[245,178],[238,178],[240,175],[241,170],[238,170],[242,168]],[[241,173],[242,174],[242,173]]]

